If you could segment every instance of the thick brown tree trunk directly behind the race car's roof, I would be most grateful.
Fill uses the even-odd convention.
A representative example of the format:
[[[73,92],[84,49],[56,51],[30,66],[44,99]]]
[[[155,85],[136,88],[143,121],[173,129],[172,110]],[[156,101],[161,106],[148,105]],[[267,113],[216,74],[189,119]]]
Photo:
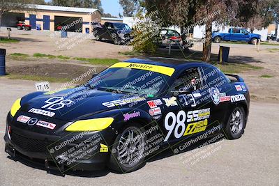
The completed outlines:
[[[211,36],[212,36],[212,23],[206,23],[205,26],[205,42],[203,45],[203,51],[202,51],[202,61],[209,62],[210,56],[211,56]]]

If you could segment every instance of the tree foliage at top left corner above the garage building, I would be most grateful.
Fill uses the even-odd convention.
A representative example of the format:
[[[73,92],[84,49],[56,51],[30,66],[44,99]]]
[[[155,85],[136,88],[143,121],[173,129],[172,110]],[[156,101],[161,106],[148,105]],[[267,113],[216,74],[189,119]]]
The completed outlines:
[[[33,7],[29,5],[31,0],[0,0],[0,28],[1,18],[4,13],[8,13],[11,10],[31,10]]]

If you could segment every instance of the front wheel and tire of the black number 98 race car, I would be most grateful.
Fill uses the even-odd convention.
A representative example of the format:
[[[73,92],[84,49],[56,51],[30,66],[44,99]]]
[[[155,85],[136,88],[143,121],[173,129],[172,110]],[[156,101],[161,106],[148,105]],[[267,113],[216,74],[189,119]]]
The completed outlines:
[[[146,137],[144,128],[132,123],[117,135],[107,166],[118,173],[128,173],[142,168]]]

